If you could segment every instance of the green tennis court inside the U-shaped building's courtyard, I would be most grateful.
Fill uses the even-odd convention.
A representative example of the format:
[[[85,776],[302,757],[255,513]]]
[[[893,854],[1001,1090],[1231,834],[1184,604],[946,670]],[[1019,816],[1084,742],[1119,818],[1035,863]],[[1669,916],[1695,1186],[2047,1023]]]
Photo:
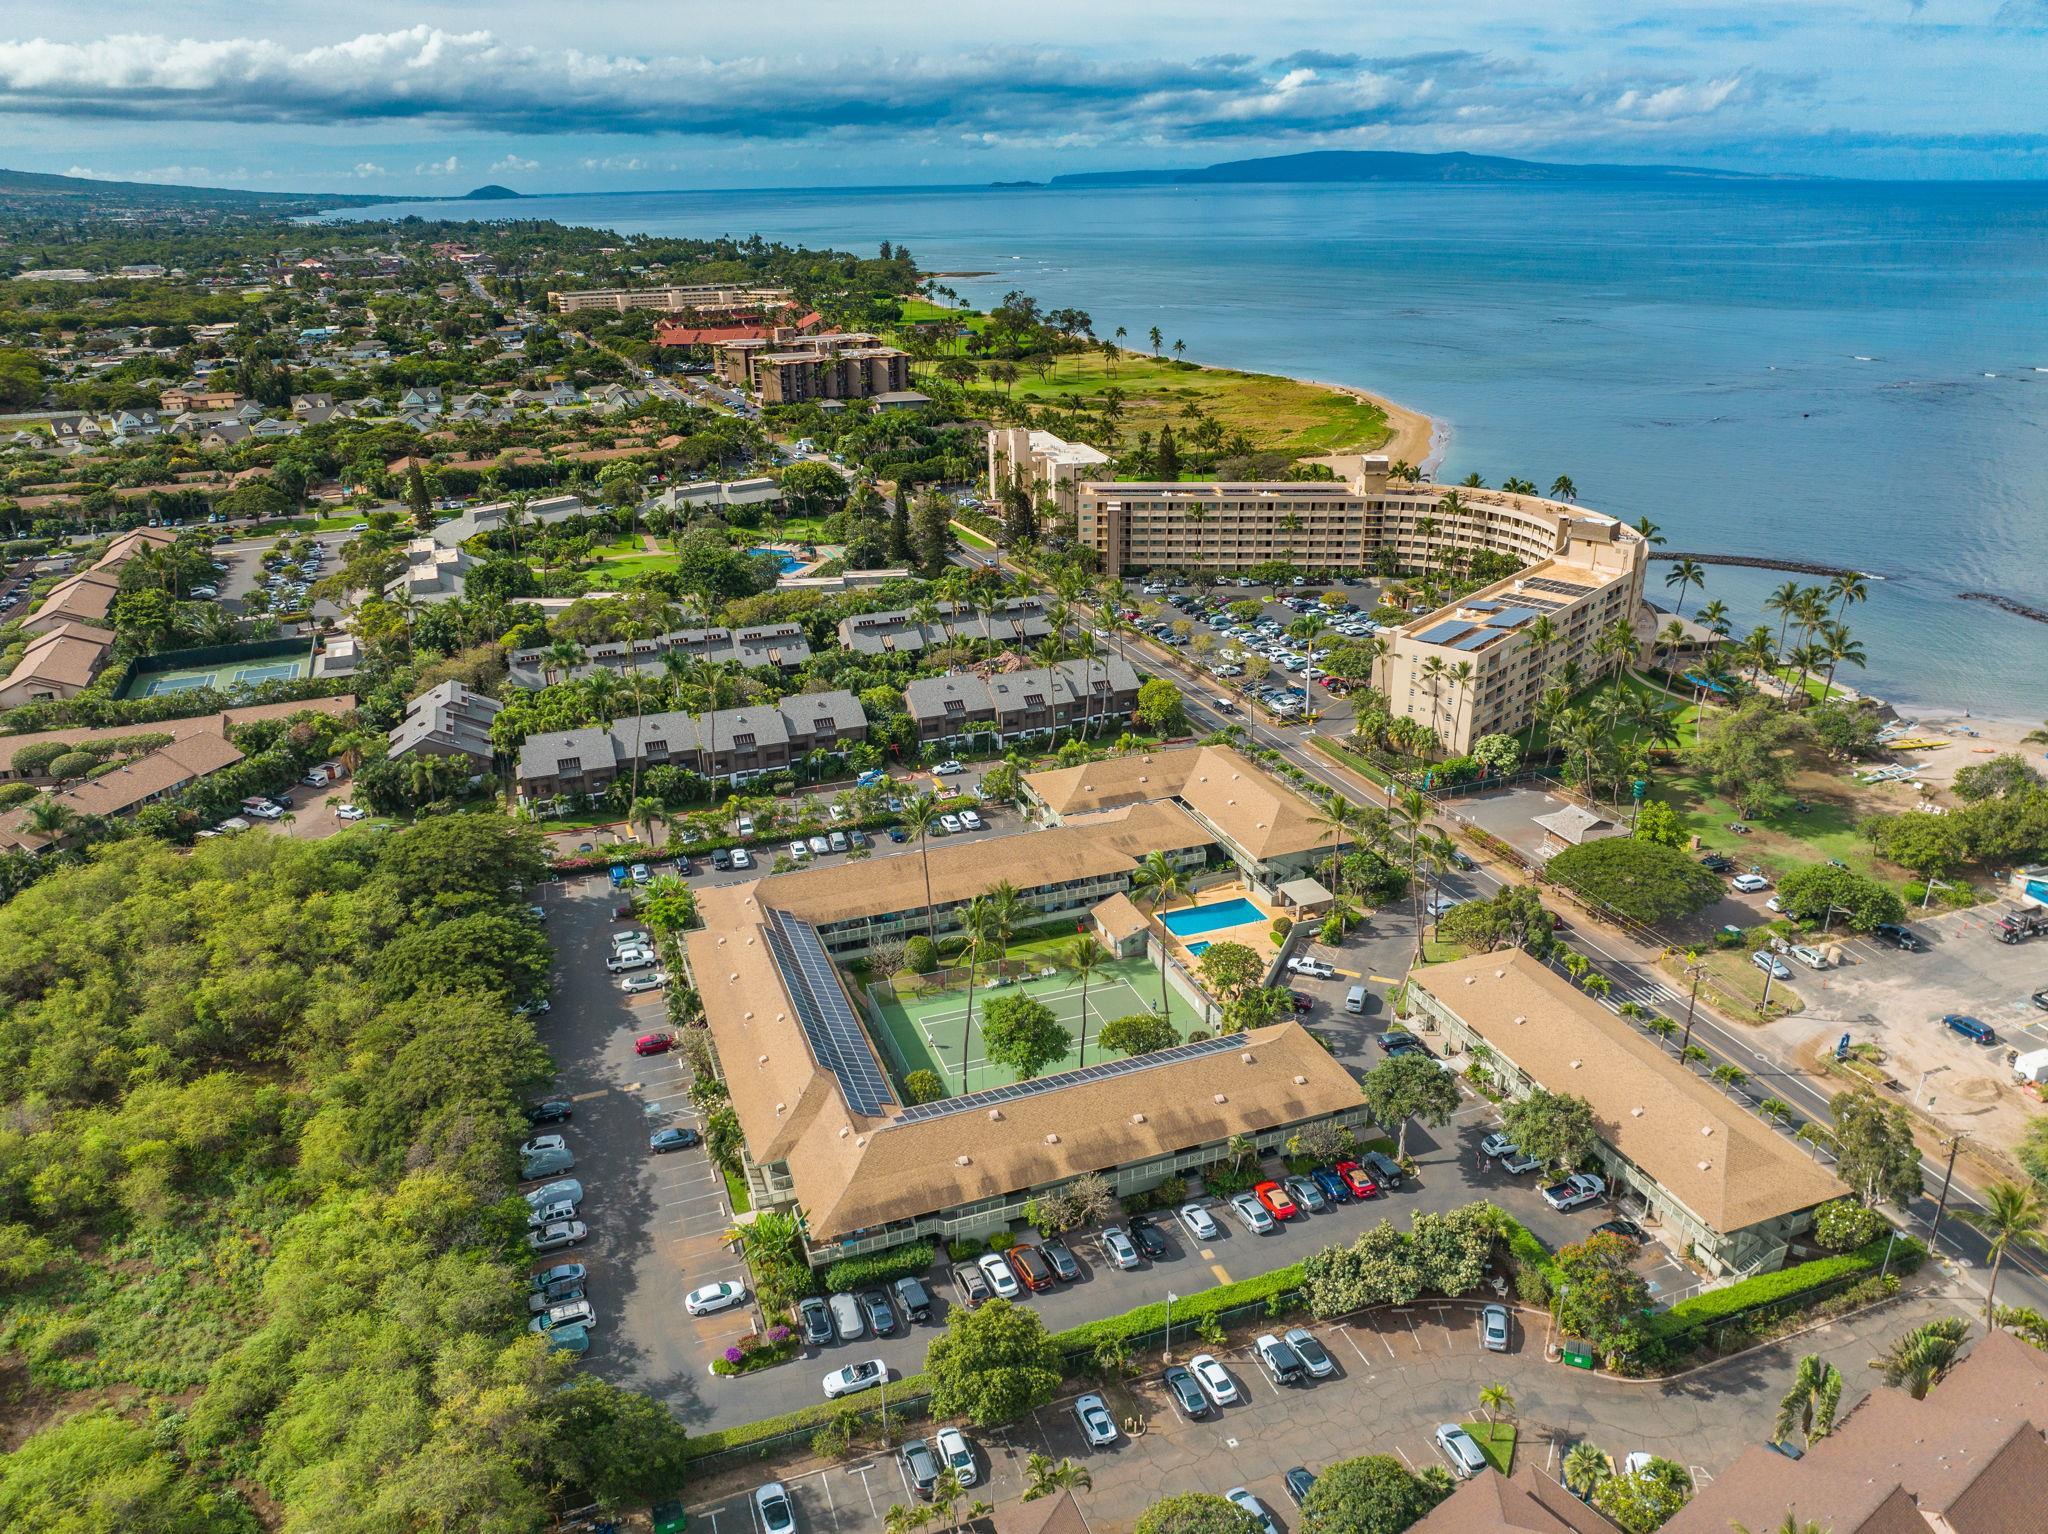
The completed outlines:
[[[1028,979],[1008,979],[1001,985],[975,987],[975,1018],[967,1020],[967,987],[952,985],[930,995],[899,995],[885,983],[868,987],[874,1010],[881,1012],[887,1045],[891,1045],[893,1065],[899,1073],[934,1071],[946,1083],[948,1096],[958,1096],[961,1049],[965,1034],[967,1049],[967,1092],[1010,1085],[1016,1075],[1006,1065],[993,1065],[981,1053],[981,1010],[999,997],[1024,991],[1034,1002],[1051,1008],[1061,1026],[1075,1036],[1075,1049],[1067,1059],[1047,1065],[1040,1075],[1073,1071],[1081,1065],[1081,981],[1065,969]],[[1180,1036],[1202,1028],[1202,1020],[1186,997],[1167,987],[1167,1018]],[[1104,1057],[1096,1047],[1096,1032],[1110,1018],[1128,1018],[1133,1012],[1159,1010],[1159,967],[1145,958],[1118,958],[1102,965],[1087,977],[1087,1061]]]

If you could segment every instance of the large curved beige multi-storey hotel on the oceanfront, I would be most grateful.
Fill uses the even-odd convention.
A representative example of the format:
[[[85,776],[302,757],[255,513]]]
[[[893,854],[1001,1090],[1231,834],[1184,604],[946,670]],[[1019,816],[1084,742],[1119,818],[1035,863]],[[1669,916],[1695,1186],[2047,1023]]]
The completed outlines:
[[[1067,446],[1047,432],[991,432],[991,496],[999,471],[1034,483],[1057,477]],[[1649,555],[1642,535],[1612,516],[1540,496],[1397,481],[1376,453],[1350,459],[1343,479],[1321,481],[1079,479],[1075,539],[1114,573],[1272,561],[1319,573],[1382,563],[1425,571],[1507,555],[1522,565],[1516,576],[1382,633],[1374,686],[1452,754],[1528,725],[1548,676],[1569,662],[1591,668],[1599,633],[1616,619],[1636,623]],[[1548,619],[1548,641],[1538,619]]]

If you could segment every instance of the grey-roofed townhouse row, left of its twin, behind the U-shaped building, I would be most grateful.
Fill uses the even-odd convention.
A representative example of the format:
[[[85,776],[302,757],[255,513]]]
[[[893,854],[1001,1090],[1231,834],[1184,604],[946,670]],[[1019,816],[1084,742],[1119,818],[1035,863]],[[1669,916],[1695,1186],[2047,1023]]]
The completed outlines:
[[[518,754],[522,803],[604,793],[633,764],[676,766],[735,784],[795,766],[811,752],[844,752],[868,737],[852,692],[797,692],[780,702],[709,715],[635,715],[604,727],[528,735]]]

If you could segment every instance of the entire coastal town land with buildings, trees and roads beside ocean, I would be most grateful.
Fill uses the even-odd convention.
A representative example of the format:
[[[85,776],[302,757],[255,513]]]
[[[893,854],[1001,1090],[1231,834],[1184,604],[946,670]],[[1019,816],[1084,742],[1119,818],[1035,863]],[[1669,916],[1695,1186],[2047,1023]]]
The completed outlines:
[[[2040,1526],[2048,725],[1880,582],[319,211],[0,209],[10,1526]]]

